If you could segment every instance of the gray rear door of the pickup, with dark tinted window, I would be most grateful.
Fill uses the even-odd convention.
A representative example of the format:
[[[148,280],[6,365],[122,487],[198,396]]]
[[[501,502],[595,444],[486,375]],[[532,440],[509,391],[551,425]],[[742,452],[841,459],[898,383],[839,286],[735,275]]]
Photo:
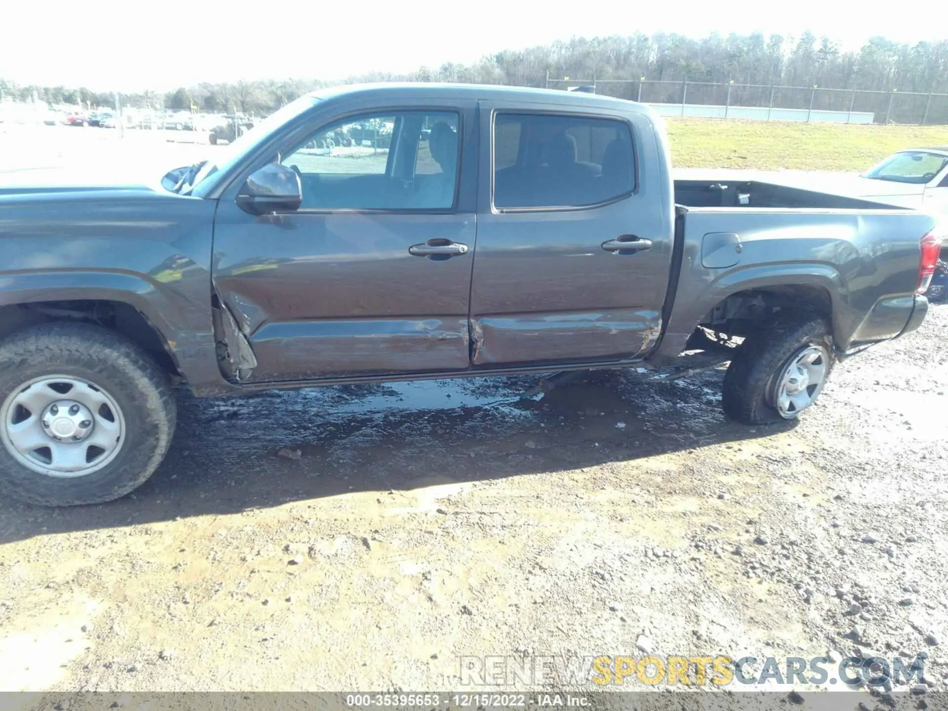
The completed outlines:
[[[661,329],[673,216],[646,116],[481,103],[473,364],[635,356]]]

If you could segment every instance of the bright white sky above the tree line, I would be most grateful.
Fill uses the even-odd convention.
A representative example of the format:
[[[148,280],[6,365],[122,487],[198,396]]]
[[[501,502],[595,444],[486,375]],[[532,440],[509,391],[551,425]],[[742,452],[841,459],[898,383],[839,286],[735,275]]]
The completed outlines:
[[[344,79],[470,63],[502,49],[573,36],[811,30],[844,49],[871,36],[948,37],[944,0],[874,11],[858,0],[6,0],[0,77],[96,91],[171,91],[238,79]],[[892,8],[891,5],[876,7]]]

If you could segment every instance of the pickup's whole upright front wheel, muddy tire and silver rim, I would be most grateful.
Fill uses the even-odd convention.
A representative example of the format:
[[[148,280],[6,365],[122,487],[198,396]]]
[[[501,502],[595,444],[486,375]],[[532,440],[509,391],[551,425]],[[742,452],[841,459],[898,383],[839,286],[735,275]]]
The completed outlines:
[[[0,494],[46,506],[118,499],[171,445],[171,383],[100,326],[33,326],[0,343]]]

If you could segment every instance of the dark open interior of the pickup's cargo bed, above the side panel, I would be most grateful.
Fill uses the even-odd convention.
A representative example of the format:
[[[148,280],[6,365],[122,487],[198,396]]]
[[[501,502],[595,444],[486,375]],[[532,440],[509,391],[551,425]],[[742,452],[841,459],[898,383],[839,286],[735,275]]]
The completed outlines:
[[[904,210],[855,197],[757,180],[675,180],[675,203],[688,208]]]

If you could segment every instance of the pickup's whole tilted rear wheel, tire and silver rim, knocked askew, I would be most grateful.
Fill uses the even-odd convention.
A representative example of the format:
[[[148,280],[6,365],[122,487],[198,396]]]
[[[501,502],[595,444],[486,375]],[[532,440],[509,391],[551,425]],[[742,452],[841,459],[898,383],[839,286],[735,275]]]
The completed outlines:
[[[777,321],[738,348],[724,375],[721,406],[745,425],[796,419],[816,402],[833,362],[825,320]]]

